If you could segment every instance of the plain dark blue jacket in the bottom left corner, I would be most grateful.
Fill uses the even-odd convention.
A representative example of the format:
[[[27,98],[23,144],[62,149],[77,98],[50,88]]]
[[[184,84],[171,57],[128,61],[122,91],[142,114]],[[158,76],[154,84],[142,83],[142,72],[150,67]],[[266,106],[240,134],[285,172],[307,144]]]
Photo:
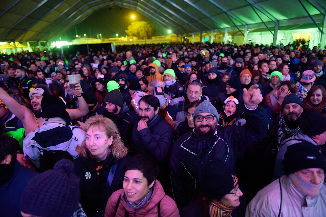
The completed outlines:
[[[22,216],[19,209],[22,191],[37,174],[38,172],[20,165],[16,160],[14,175],[0,186],[0,216]]]

